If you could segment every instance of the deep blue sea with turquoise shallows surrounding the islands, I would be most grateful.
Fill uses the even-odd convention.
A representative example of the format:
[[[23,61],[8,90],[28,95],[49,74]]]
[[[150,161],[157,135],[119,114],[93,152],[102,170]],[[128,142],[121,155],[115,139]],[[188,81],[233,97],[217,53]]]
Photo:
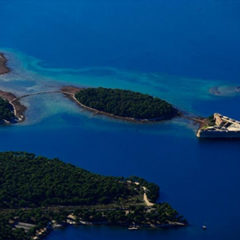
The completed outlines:
[[[0,88],[18,96],[63,85],[130,89],[194,116],[240,119],[240,95],[209,91],[240,85],[239,12],[239,0],[0,0],[0,52],[12,70]],[[199,140],[198,126],[184,119],[110,119],[60,94],[22,102],[26,121],[0,127],[0,151],[143,177],[189,222],[139,231],[71,226],[47,240],[240,239],[240,141]]]

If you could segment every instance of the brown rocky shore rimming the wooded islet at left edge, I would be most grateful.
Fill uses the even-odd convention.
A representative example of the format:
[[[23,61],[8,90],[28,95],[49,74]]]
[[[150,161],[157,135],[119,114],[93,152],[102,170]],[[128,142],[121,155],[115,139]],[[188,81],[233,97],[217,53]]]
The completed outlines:
[[[0,90],[0,97],[7,100],[13,106],[13,111],[15,117],[17,118],[17,122],[23,122],[25,120],[24,112],[27,108],[20,103],[18,98],[13,93],[2,90]]]

